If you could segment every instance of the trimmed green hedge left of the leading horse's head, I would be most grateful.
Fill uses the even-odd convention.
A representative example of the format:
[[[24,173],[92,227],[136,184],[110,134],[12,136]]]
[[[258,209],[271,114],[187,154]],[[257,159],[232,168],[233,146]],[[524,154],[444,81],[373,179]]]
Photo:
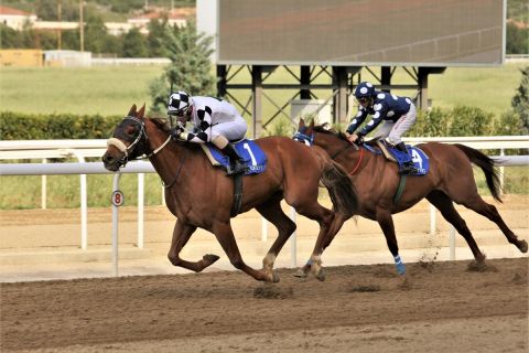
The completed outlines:
[[[106,139],[121,116],[0,111],[0,140]]]

